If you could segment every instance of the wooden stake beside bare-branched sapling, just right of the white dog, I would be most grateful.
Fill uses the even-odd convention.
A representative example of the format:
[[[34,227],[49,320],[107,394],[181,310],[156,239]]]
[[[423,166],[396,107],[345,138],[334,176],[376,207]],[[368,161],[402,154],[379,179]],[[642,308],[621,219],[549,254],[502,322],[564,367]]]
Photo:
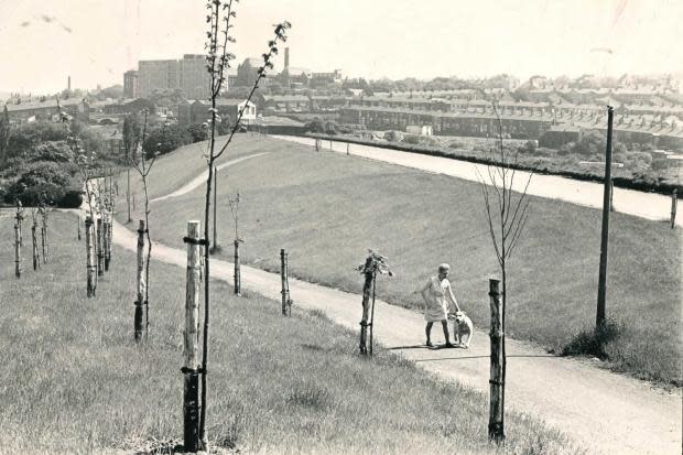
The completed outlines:
[[[502,327],[502,305],[500,301],[500,280],[489,280],[489,296],[491,306],[491,325],[489,337],[491,340],[491,373],[489,379],[490,408],[488,420],[489,441],[501,443],[505,440],[503,427],[503,353],[502,343],[505,332]]]

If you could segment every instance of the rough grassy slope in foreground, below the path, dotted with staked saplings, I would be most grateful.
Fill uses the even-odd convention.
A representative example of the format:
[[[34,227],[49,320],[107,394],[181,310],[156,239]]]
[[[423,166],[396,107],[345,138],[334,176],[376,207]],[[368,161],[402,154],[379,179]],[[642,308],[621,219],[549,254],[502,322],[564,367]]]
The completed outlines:
[[[113,250],[85,297],[74,216],[51,216],[51,262],[13,277],[12,220],[0,213],[0,452],[133,453],[182,437],[184,280],[152,264],[149,343],[132,340],[135,260]],[[24,262],[25,263],[25,262]],[[213,284],[209,440],[241,453],[497,453],[487,398],[357,339],[316,313],[232,297]],[[574,454],[535,420],[508,414],[506,454]],[[119,453],[119,452],[117,452]],[[166,453],[166,452],[164,452]]]

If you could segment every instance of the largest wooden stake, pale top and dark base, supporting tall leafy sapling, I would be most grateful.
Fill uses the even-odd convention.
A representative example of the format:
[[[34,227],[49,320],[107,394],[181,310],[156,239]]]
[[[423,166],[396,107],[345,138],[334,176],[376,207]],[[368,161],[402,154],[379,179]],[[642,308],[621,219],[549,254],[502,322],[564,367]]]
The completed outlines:
[[[187,282],[185,293],[185,364],[183,387],[183,445],[199,449],[199,221],[187,221]]]

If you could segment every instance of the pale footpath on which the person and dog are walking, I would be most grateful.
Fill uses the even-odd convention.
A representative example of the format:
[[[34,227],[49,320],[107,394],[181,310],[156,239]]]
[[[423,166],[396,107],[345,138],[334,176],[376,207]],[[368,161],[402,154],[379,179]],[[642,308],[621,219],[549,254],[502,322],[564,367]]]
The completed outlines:
[[[183,193],[192,189],[192,185],[186,185]],[[180,194],[174,192],[174,195]],[[134,235],[119,224],[115,225],[113,239],[127,249],[135,249]],[[155,245],[153,251],[156,260],[186,267],[183,250]],[[213,259],[212,277],[230,282],[231,264]],[[280,300],[278,274],[242,267],[242,286]],[[359,295],[292,279],[290,289],[295,306],[321,310],[336,323],[358,328]],[[438,332],[435,327],[433,334]],[[490,353],[488,335],[484,332],[475,332],[469,349],[426,349],[420,346],[424,337],[422,315],[378,301],[375,335],[383,346],[425,370],[488,392]],[[681,453],[680,392],[655,390],[646,382],[596,368],[590,360],[559,358],[511,339],[507,346],[509,409],[542,419],[592,454]]]

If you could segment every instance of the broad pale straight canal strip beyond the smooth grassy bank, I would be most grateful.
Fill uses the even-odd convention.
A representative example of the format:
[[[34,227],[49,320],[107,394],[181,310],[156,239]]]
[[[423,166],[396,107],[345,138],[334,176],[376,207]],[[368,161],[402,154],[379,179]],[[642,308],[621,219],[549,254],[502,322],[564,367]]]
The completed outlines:
[[[300,138],[294,136],[275,136],[275,138],[299,142],[315,147],[315,139]],[[458,178],[478,182],[480,178],[489,183],[489,171],[485,164],[475,164],[449,158],[430,156],[419,153],[404,152],[395,149],[384,149],[372,145],[347,143],[343,141],[323,140],[323,148],[339,153],[348,153],[371,160],[384,161],[406,167],[451,175]],[[492,167],[491,175],[499,175],[499,167]],[[499,178],[499,177],[498,177]],[[516,171],[512,189],[522,192],[529,181],[529,173]],[[498,180],[500,183],[500,180]],[[534,174],[529,181],[527,193],[560,199],[572,204],[603,209],[604,185],[596,182],[578,181],[557,175]],[[655,221],[670,223],[671,197],[639,192],[636,189],[614,188],[612,207],[620,212],[637,217]],[[676,216],[676,226],[683,226],[683,214]]]

